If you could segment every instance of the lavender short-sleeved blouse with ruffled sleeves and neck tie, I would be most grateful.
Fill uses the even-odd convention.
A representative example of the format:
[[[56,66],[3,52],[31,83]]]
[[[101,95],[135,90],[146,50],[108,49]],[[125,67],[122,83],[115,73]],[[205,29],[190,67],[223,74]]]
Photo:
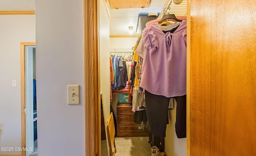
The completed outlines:
[[[162,32],[158,23],[143,30],[142,45],[136,53],[143,57],[140,86],[165,97],[186,94],[186,20],[173,32]],[[141,42],[141,41],[140,41]]]

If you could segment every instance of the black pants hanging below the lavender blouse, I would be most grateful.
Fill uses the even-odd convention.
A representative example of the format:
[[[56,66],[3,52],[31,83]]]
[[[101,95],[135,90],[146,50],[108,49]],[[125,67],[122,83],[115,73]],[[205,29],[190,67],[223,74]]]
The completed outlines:
[[[165,137],[170,98],[148,91],[145,91],[145,98],[148,131],[156,136]],[[177,102],[175,132],[178,138],[186,138],[186,95],[174,98]]]

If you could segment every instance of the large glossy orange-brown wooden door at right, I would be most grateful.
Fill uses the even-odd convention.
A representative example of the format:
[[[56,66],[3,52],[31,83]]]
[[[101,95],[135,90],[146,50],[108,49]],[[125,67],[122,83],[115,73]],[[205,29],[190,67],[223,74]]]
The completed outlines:
[[[188,0],[188,156],[256,156],[255,10]]]

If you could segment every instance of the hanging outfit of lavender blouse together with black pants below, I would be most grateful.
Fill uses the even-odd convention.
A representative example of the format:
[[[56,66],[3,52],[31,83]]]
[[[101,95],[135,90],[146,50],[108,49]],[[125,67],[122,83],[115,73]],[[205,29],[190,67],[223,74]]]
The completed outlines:
[[[176,134],[178,138],[185,138],[186,20],[164,25],[148,24],[135,51],[143,62],[140,87],[145,91],[148,131],[155,136],[166,135],[168,109],[173,108],[171,98],[174,98]]]

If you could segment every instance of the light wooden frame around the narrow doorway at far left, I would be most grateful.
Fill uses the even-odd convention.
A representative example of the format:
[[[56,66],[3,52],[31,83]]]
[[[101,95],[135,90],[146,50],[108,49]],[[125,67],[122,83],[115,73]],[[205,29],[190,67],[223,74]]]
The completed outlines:
[[[36,45],[36,42],[20,42],[20,97],[21,97],[21,147],[26,148],[26,84],[25,84],[25,46]],[[21,151],[26,156],[26,150]]]

